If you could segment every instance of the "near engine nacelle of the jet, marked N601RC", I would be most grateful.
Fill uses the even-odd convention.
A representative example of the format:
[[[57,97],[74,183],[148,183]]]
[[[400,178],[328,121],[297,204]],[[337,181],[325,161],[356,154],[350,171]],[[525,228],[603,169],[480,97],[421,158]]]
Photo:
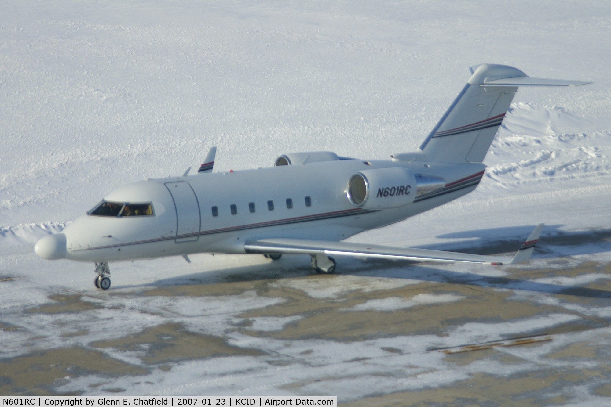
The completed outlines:
[[[407,168],[359,171],[348,180],[346,196],[363,209],[389,209],[411,204],[416,180]]]

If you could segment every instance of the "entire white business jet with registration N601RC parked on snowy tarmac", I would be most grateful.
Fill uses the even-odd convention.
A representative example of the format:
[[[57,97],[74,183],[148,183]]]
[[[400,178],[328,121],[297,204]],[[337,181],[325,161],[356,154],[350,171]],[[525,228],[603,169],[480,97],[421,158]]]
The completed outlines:
[[[338,157],[329,151],[283,154],[274,167],[212,173],[212,148],[197,175],[145,179],[114,190],[62,232],[42,237],[45,259],[95,262],[95,286],[111,285],[108,262],[191,253],[312,256],[512,264],[530,258],[543,224],[513,258],[343,242],[474,190],[497,129],[520,86],[589,82],[539,79],[506,65],[470,68],[472,76],[414,153],[390,160]]]

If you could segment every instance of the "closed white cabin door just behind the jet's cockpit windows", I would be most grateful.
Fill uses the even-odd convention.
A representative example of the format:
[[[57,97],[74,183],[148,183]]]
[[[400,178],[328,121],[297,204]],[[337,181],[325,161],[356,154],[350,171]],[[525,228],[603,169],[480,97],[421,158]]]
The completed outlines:
[[[199,202],[189,182],[166,182],[176,209],[176,243],[199,239],[201,217]]]

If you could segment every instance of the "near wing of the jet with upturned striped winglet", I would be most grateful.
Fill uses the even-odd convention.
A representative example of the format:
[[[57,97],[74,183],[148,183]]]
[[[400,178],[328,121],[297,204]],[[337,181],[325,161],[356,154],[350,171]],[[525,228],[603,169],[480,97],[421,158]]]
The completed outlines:
[[[335,254],[387,259],[406,259],[411,261],[467,262],[479,264],[514,264],[527,261],[532,256],[539,234],[543,229],[540,223],[525,240],[513,258],[480,256],[479,254],[455,253],[453,251],[428,250],[410,247],[391,247],[367,245],[364,243],[334,242],[329,240],[308,239],[261,239],[249,240],[244,244],[246,253],[286,253],[286,254]]]

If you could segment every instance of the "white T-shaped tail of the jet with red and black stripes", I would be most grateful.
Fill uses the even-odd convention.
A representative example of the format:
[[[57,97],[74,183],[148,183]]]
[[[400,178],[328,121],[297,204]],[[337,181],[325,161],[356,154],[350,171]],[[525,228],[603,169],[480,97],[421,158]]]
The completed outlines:
[[[500,124],[520,86],[576,86],[590,82],[527,76],[517,68],[484,63],[469,68],[470,77],[415,153],[393,155],[395,160],[483,162]]]

